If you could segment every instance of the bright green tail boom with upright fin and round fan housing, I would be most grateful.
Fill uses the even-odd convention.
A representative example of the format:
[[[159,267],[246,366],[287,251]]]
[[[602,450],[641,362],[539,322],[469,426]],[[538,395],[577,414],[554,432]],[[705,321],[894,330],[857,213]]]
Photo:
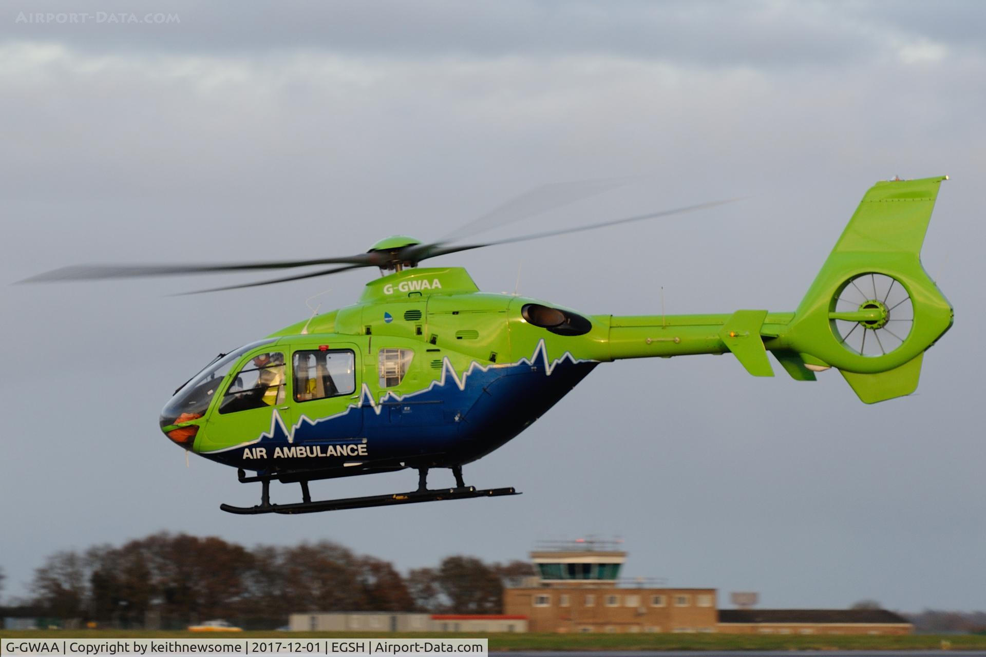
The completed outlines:
[[[815,371],[837,368],[866,403],[912,393],[924,352],[953,319],[951,303],[920,257],[939,186],[947,178],[872,187],[795,312],[598,316],[597,321],[608,323],[599,360],[732,352],[750,374],[772,376],[769,351],[797,380],[814,380]],[[878,289],[878,277],[889,282],[885,293]],[[857,284],[870,279],[872,294]],[[896,301],[900,296],[903,300]],[[902,315],[905,302],[912,316]],[[849,338],[860,327],[856,336],[863,341],[857,348]],[[893,343],[884,345],[887,336]]]

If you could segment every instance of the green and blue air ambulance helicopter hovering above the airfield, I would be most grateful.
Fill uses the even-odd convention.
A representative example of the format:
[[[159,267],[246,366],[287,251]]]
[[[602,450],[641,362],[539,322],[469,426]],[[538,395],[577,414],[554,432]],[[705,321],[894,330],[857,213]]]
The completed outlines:
[[[796,381],[839,370],[868,404],[914,392],[924,352],[953,321],[951,303],[920,260],[946,179],[876,183],[801,303],[785,312],[587,314],[526,296],[480,292],[461,267],[419,266],[439,255],[724,201],[494,241],[425,243],[394,235],[351,256],[81,265],[27,281],[331,266],[202,291],[213,292],[377,267],[382,277],[367,283],[356,303],[314,313],[203,367],[165,405],[161,430],[188,452],[236,468],[240,482],[260,483],[259,504],[220,505],[231,513],[296,514],[513,495],[519,494],[514,488],[466,486],[462,467],[523,432],[602,362],[732,353],[753,376],[773,376],[769,352]],[[428,488],[428,473],[436,468],[452,470],[455,488]],[[404,469],[417,471],[416,490],[324,500],[313,500],[309,490],[317,480]],[[272,481],[300,485],[301,501],[272,503]]]

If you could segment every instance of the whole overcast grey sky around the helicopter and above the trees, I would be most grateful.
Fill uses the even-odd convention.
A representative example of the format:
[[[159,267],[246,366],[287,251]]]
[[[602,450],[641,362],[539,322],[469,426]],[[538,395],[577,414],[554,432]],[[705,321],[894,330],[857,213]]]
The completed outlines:
[[[984,33],[978,2],[4,2],[2,595],[55,551],[160,530],[332,540],[400,568],[598,535],[622,538],[624,574],[723,606],[986,608]],[[537,185],[628,176],[489,236],[745,200],[432,262],[588,314],[656,314],[662,290],[669,314],[785,311],[873,183],[941,174],[922,259],[955,324],[916,394],[867,406],[834,371],[753,378],[728,355],[606,363],[466,466],[517,497],[234,516],[219,503],[257,487],[161,434],[217,353],[312,296],[354,302],[375,271],[198,296],[174,295],[246,278],[13,285],[87,262],[359,253]]]

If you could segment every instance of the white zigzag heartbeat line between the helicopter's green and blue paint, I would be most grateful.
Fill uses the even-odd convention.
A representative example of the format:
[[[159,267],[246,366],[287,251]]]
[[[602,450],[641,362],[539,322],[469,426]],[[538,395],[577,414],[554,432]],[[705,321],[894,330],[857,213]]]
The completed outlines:
[[[569,361],[569,362],[571,362],[573,364],[578,364],[580,362],[596,362],[596,361],[594,361],[592,359],[576,359],[574,356],[572,356],[572,353],[571,352],[565,352],[564,354],[562,354],[559,358],[555,359],[554,361],[548,361],[548,350],[547,350],[547,347],[544,345],[544,339],[543,338],[541,338],[540,340],[537,341],[537,346],[534,348],[534,353],[530,355],[530,358],[529,359],[524,358],[524,359],[521,359],[520,361],[516,361],[516,362],[504,362],[502,364],[497,364],[495,362],[491,362],[488,365],[481,365],[477,361],[472,361],[472,362],[469,363],[468,368],[464,372],[462,372],[461,377],[459,377],[458,373],[456,372],[456,368],[453,366],[452,361],[449,361],[449,357],[447,356],[443,360],[443,364],[442,364],[442,376],[438,380],[432,381],[428,385],[427,388],[423,388],[421,390],[416,390],[414,392],[409,392],[409,393],[407,393],[405,395],[399,395],[399,394],[397,394],[395,392],[387,392],[386,395],[384,395],[383,397],[381,397],[380,402],[378,403],[374,399],[373,393],[370,391],[369,386],[367,386],[367,384],[364,382],[363,385],[362,385],[362,387],[361,387],[361,389],[360,389],[360,399],[359,399],[359,401],[356,404],[350,404],[349,406],[347,406],[345,411],[341,411],[339,413],[336,413],[335,415],[326,416],[324,418],[318,418],[317,420],[310,420],[308,417],[306,417],[306,416],[303,415],[298,420],[298,422],[295,423],[294,426],[292,426],[290,428],[288,428],[288,426],[284,423],[284,419],[281,418],[280,412],[278,411],[278,409],[275,408],[273,410],[273,413],[271,413],[270,429],[269,430],[264,431],[263,433],[261,433],[258,437],[254,438],[253,440],[247,440],[246,442],[241,442],[241,443],[239,443],[237,445],[233,445],[232,447],[223,447],[222,449],[210,450],[207,453],[209,453],[209,454],[218,454],[220,452],[228,452],[228,451],[231,451],[231,450],[234,450],[234,449],[240,449],[241,447],[246,447],[248,445],[256,444],[256,443],[260,442],[261,440],[263,440],[264,438],[273,438],[274,437],[274,434],[277,432],[276,431],[277,427],[281,427],[281,430],[284,432],[284,434],[288,436],[288,442],[289,443],[294,443],[294,441],[295,441],[295,431],[297,431],[299,428],[301,428],[302,425],[306,425],[307,424],[307,425],[310,425],[312,427],[315,427],[316,425],[318,425],[320,423],[328,422],[329,420],[335,420],[336,418],[341,418],[342,416],[348,414],[353,409],[363,408],[363,405],[365,403],[366,404],[369,404],[371,407],[373,407],[374,413],[379,416],[380,413],[381,413],[381,411],[384,410],[384,407],[382,405],[385,402],[387,402],[388,400],[393,400],[393,401],[396,401],[396,402],[401,402],[401,401],[407,399],[408,397],[414,397],[415,395],[422,395],[422,394],[424,394],[426,392],[431,392],[435,388],[445,387],[446,381],[450,377],[452,378],[453,382],[458,386],[458,389],[459,390],[465,390],[465,383],[466,383],[466,380],[469,377],[469,374],[471,374],[476,369],[478,369],[479,371],[482,371],[482,372],[487,372],[490,369],[504,369],[504,368],[507,368],[507,367],[516,367],[518,365],[523,365],[523,364],[532,365],[532,364],[534,364],[535,361],[537,361],[538,355],[540,355],[541,361],[543,361],[543,363],[544,363],[544,375],[545,376],[551,376],[551,372],[554,371],[554,368],[557,367],[558,364],[560,362],[563,362],[563,361]]]

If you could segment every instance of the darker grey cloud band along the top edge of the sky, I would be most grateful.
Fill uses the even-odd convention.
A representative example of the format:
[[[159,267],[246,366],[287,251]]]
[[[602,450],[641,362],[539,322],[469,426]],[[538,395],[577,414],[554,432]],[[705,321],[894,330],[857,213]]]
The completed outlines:
[[[878,3],[879,4],[879,3]],[[188,0],[107,0],[85,6],[45,0],[4,6],[5,39],[50,39],[106,51],[257,53],[316,49],[391,57],[556,57],[572,54],[671,60],[704,66],[793,67],[863,61],[900,39],[969,41],[976,3],[895,3],[896,12],[860,3],[331,2],[243,5]],[[166,12],[179,25],[17,23],[48,12]],[[956,16],[957,15],[957,16]],[[951,26],[962,19],[963,28]],[[930,20],[929,20],[930,19]],[[943,26],[950,26],[948,30]],[[620,37],[612,38],[618,33]]]

